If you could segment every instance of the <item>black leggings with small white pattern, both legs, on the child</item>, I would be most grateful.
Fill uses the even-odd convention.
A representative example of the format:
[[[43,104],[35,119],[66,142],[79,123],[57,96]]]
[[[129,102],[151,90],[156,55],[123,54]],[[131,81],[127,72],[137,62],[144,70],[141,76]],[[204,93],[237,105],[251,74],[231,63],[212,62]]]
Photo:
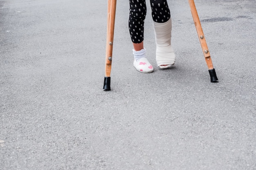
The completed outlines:
[[[144,20],[146,18],[146,0],[129,0],[130,17],[129,31],[132,42],[140,43],[144,40]],[[167,0],[150,0],[153,21],[167,22],[171,18]]]

